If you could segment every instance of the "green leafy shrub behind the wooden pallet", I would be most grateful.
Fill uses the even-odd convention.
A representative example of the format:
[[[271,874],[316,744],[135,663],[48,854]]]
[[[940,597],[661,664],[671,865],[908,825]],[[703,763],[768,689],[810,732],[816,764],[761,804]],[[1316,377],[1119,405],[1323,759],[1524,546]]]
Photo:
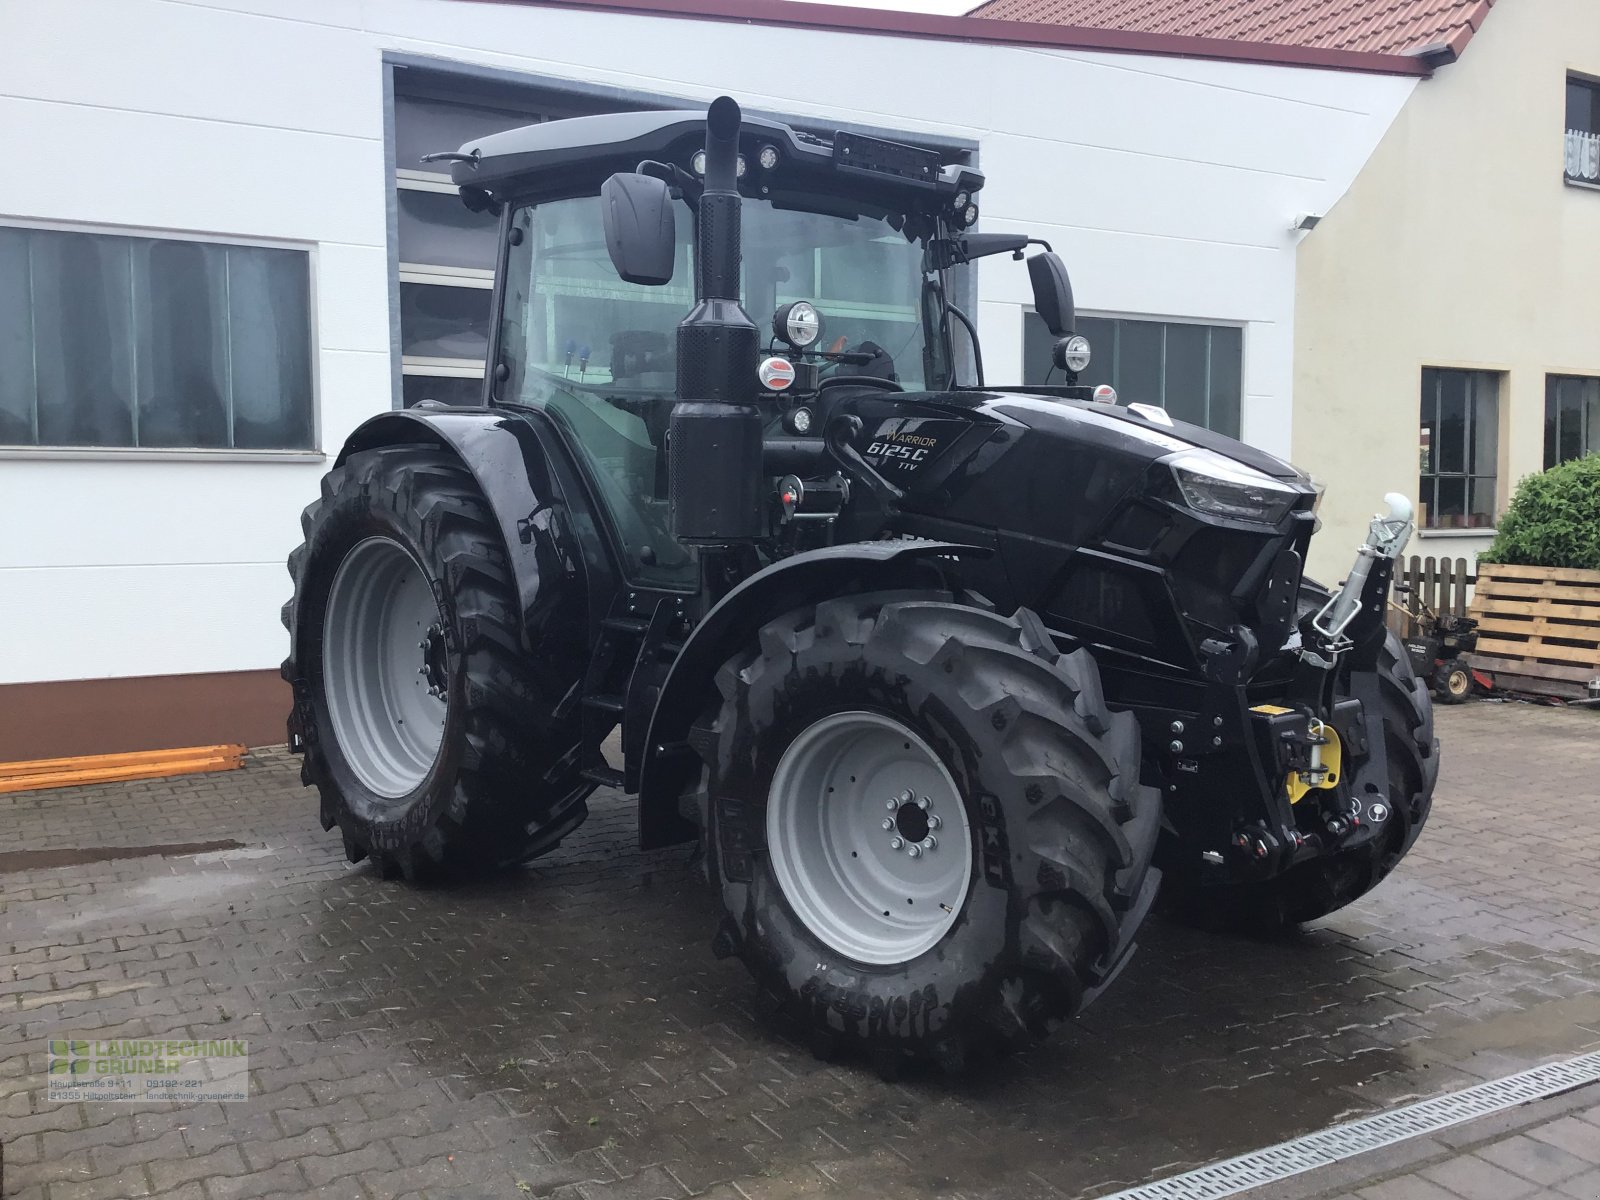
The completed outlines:
[[[1486,563],[1600,571],[1600,454],[1574,458],[1517,485]]]

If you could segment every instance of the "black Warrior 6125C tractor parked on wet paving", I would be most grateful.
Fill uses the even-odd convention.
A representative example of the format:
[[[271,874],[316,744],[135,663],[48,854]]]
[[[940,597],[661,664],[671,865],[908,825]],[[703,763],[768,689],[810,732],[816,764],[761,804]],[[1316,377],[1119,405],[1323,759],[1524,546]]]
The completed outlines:
[[[290,738],[352,862],[526,862],[624,789],[776,1008],[960,1064],[1098,995],[1163,875],[1282,926],[1411,846],[1410,506],[1306,581],[1307,477],[1080,384],[1067,270],[973,232],[976,170],[726,98],[442,157],[499,218],[483,405],[363,424],[290,557]],[[992,254],[1064,382],[984,379]]]

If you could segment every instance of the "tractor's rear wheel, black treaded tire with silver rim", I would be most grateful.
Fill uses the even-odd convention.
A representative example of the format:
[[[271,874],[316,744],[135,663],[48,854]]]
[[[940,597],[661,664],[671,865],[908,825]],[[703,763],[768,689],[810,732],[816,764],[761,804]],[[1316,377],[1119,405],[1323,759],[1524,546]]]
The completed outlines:
[[[290,555],[290,744],[352,862],[419,878],[552,850],[587,816],[576,722],[517,634],[472,475],[430,446],[350,454]]]

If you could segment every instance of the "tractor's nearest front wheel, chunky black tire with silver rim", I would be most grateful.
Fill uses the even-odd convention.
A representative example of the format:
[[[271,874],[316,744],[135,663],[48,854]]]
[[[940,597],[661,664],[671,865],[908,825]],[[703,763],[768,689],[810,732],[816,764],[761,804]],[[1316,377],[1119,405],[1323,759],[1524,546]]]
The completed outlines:
[[[1120,966],[1160,800],[1134,718],[1032,613],[830,600],[770,622],[717,686],[694,742],[718,947],[819,1053],[958,1067],[1045,1037]]]

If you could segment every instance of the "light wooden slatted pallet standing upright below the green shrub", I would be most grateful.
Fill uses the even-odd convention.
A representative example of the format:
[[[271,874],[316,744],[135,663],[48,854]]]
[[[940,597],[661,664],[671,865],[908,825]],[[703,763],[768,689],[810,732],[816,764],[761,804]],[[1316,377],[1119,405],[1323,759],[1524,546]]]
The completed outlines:
[[[1507,691],[1582,699],[1600,678],[1600,571],[1478,563],[1469,662]]]

